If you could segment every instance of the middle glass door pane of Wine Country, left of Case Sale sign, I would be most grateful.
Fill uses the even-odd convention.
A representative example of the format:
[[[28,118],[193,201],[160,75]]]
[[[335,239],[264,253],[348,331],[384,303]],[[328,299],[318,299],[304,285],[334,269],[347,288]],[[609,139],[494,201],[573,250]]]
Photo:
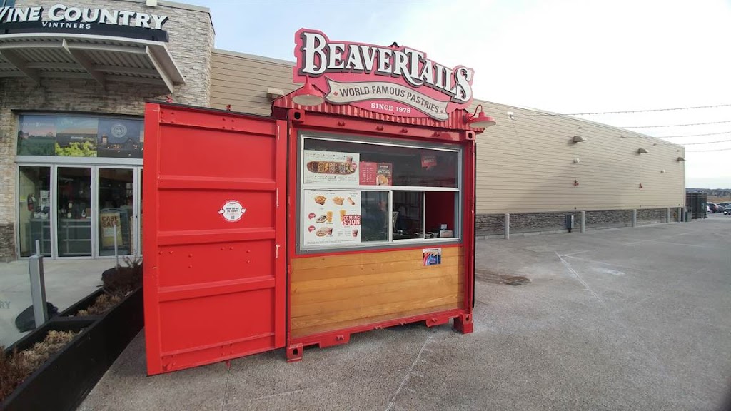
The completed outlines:
[[[91,167],[58,167],[56,175],[56,255],[91,257]]]

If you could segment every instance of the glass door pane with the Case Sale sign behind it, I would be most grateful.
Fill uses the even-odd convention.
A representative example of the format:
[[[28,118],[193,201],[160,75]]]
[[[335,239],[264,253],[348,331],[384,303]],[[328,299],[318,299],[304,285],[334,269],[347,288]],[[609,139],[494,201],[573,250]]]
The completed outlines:
[[[133,254],[136,248],[135,170],[99,167],[99,255]]]

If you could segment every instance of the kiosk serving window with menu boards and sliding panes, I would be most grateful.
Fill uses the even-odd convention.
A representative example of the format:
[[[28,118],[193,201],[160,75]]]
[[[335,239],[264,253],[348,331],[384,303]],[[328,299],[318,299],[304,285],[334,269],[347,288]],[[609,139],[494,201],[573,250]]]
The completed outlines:
[[[300,249],[458,241],[461,152],[303,137]]]

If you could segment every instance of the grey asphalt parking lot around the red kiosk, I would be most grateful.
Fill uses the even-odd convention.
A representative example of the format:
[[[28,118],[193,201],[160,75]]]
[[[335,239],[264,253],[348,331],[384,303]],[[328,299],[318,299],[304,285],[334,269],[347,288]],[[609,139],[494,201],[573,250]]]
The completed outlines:
[[[474,333],[406,325],[156,377],[140,333],[80,410],[721,410],[730,249],[715,215],[483,240]]]

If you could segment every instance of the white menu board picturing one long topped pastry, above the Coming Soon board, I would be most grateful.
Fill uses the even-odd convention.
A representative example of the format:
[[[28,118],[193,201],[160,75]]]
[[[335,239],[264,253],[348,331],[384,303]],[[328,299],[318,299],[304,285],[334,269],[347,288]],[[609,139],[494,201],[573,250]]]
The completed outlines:
[[[357,185],[359,159],[357,153],[305,150],[303,184]]]

